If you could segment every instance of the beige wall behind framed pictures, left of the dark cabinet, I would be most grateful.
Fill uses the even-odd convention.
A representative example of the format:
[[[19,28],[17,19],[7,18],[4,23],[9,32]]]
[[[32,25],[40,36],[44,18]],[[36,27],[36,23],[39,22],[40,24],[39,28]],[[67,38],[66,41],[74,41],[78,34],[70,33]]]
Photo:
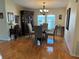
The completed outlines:
[[[20,10],[23,9],[23,7],[17,5],[14,3],[13,0],[5,0],[5,6],[6,6],[6,19],[7,19],[7,22],[8,22],[8,15],[7,15],[7,12],[12,12],[15,15],[18,15],[20,16]],[[14,23],[15,23],[15,20],[14,20]],[[20,20],[19,20],[19,25],[20,25]],[[10,26],[8,26],[10,28]]]

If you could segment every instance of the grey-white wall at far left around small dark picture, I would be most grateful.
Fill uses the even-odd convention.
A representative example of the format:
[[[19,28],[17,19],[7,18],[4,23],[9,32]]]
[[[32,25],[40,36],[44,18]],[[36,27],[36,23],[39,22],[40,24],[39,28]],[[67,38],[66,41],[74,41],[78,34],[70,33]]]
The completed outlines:
[[[3,19],[0,19],[0,40],[9,40],[6,21],[5,0],[0,0],[0,12],[3,13]]]

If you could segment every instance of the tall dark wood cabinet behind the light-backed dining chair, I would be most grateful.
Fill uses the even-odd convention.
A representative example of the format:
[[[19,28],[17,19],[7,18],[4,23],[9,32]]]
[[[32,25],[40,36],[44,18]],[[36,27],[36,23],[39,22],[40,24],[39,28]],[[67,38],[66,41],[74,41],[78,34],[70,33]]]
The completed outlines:
[[[33,11],[22,10],[21,12],[21,30],[22,35],[27,35],[29,33],[29,29],[27,23],[31,23],[33,27]]]

